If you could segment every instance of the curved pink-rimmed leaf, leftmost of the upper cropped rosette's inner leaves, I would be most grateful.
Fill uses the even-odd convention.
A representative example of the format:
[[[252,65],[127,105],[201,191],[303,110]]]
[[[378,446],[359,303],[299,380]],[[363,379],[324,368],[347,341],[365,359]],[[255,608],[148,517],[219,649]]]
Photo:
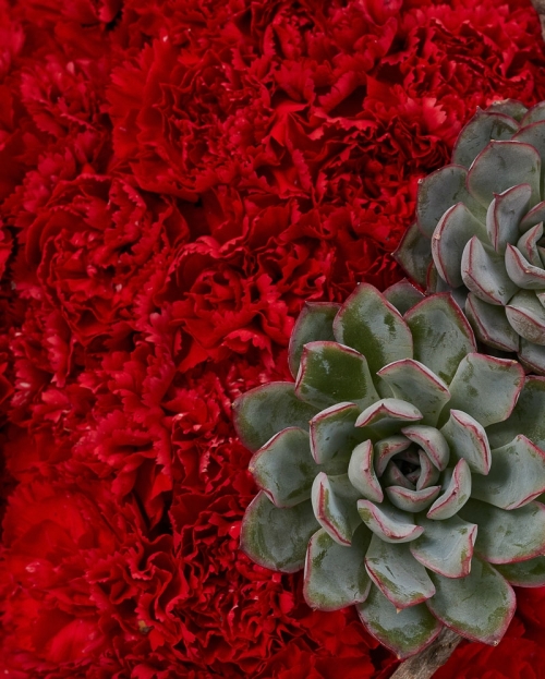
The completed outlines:
[[[463,284],[462,254],[473,237],[486,239],[486,230],[463,203],[449,208],[434,231],[432,256],[439,276],[452,288]]]

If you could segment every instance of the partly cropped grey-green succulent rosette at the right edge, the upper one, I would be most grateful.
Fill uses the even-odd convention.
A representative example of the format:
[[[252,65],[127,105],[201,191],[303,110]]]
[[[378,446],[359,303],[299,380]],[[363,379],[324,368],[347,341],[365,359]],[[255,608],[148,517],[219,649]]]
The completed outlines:
[[[501,101],[463,128],[452,162],[419,185],[395,256],[428,290],[452,290],[483,344],[545,375],[545,101]],[[428,268],[428,264],[431,267]]]

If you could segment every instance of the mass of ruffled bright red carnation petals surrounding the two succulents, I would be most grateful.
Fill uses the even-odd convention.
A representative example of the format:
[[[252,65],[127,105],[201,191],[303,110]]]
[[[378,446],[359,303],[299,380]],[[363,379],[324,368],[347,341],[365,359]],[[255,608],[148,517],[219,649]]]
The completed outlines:
[[[0,0],[8,679],[386,679],[238,551],[230,404],[304,300],[402,274],[477,106],[545,99],[526,0]],[[545,677],[545,591],[437,679]]]

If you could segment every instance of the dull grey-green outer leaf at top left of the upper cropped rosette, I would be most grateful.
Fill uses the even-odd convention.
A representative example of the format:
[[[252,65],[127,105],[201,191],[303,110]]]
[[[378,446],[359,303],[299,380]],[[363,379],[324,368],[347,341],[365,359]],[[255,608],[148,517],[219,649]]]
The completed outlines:
[[[510,140],[518,130],[517,121],[508,116],[477,111],[458,136],[452,162],[469,168],[491,140]]]

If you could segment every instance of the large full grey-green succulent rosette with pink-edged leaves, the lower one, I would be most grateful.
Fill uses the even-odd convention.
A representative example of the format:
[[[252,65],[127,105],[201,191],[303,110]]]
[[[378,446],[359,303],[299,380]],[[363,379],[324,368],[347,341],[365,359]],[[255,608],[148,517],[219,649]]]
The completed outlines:
[[[477,353],[452,296],[407,281],[306,304],[289,362],[294,384],[234,403],[261,488],[242,549],[304,568],[310,606],[355,604],[399,657],[444,625],[498,643],[511,584],[545,584],[545,378]]]

